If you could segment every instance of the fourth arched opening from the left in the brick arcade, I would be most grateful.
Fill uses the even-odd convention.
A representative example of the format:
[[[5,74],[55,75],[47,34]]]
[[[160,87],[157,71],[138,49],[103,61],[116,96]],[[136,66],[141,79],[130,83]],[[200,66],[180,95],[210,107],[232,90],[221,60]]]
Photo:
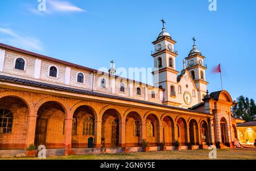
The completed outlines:
[[[115,109],[108,109],[104,112],[102,116],[102,144],[105,147],[118,147],[119,139],[121,134],[119,132],[119,120],[121,120],[121,115]]]

